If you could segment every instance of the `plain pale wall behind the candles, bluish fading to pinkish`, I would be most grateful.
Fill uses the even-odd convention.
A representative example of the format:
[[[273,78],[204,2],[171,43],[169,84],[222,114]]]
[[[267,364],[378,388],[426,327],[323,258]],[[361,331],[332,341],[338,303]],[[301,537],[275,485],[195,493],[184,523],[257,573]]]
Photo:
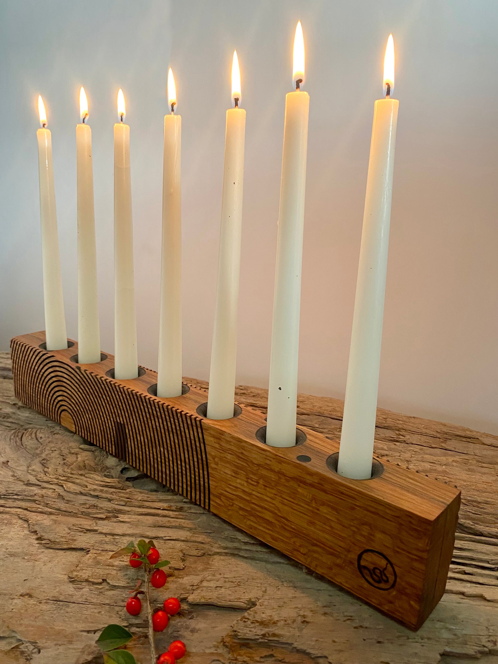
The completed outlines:
[[[498,433],[498,4],[493,0],[39,3],[1,9],[1,347],[41,329],[35,131],[46,99],[76,336],[78,90],[91,106],[102,347],[113,347],[112,124],[131,127],[139,361],[155,368],[168,62],[183,118],[184,373],[208,377],[224,114],[247,110],[238,382],[266,385],[284,98],[301,19],[311,96],[299,388],[342,397],[373,103],[390,32],[400,100],[379,405]],[[169,50],[171,46],[171,58]]]

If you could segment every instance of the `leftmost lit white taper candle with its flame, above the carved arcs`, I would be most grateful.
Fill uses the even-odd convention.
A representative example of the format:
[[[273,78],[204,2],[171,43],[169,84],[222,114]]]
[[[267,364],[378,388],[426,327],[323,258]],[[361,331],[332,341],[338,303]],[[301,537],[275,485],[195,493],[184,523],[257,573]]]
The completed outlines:
[[[46,349],[56,351],[68,347],[66,317],[60,276],[57,212],[55,208],[52,135],[46,129],[46,113],[41,96],[38,98],[41,129],[38,139],[38,173],[40,181],[40,220],[42,236],[43,295],[45,308]]]

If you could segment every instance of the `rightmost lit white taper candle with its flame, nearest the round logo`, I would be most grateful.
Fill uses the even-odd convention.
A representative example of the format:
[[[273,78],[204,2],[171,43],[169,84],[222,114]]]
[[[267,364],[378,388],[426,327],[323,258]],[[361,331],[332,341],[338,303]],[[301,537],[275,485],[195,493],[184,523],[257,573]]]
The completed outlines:
[[[398,100],[390,98],[393,88],[394,42],[390,35],[384,58],[385,98],[377,100],[374,107],[355,313],[337,467],[339,475],[353,479],[368,479],[372,475],[394,143],[398,120]]]

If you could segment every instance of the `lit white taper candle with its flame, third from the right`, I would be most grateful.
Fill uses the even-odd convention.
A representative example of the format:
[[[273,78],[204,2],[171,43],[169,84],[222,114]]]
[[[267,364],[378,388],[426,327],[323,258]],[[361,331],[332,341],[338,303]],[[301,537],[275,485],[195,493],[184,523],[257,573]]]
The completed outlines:
[[[211,369],[207,416],[228,420],[234,416],[237,357],[237,308],[242,234],[242,189],[246,112],[240,102],[240,70],[237,52],[232,60],[232,102],[226,112],[225,159],[221,201],[218,286],[212,332]]]

